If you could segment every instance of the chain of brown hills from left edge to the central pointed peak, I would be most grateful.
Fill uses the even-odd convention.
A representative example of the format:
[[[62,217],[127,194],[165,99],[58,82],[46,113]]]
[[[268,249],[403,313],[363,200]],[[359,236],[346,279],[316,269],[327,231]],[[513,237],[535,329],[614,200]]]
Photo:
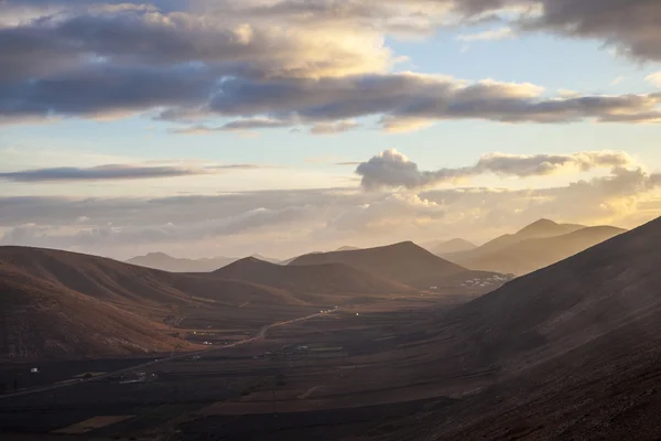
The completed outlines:
[[[306,261],[315,258],[343,261]],[[254,331],[319,306],[415,294],[431,282],[467,291],[460,283],[483,276],[412,243],[299,259],[281,266],[251,257],[213,272],[180,273],[68,251],[0,247],[6,311],[0,358],[188,347],[181,335],[167,332],[165,318]]]

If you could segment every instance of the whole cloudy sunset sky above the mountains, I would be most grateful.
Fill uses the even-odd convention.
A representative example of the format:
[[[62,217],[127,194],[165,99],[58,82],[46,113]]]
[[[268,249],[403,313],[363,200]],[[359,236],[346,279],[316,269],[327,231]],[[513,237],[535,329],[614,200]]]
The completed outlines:
[[[272,257],[661,215],[654,0],[0,0],[0,245]]]

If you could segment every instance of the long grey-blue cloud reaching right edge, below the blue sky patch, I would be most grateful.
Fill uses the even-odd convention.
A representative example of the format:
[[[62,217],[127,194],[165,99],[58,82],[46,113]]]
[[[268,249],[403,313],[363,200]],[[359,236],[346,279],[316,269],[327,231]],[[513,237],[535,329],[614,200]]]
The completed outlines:
[[[384,115],[388,128],[407,119],[487,119],[503,122],[572,122],[584,119],[658,121],[661,94],[542,98],[530,84],[466,84],[447,77],[388,74],[324,79],[224,82],[209,111],[271,114],[303,120]],[[624,118],[626,117],[626,118]]]

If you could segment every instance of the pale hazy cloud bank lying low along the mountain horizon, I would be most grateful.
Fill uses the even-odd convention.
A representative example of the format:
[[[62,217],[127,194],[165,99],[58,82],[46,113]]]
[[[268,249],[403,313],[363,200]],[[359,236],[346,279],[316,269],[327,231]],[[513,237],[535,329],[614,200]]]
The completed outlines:
[[[545,154],[534,161],[519,157],[505,164],[499,159],[481,165],[523,175],[581,170],[592,163],[609,170],[604,176],[544,189],[451,186],[398,189],[393,193],[315,189],[158,198],[0,197],[0,244],[122,258],[149,251],[192,257],[280,256],[283,249],[295,255],[335,249],[345,243],[377,246],[423,241],[437,239],[440,234],[486,240],[540,217],[632,227],[659,216],[661,174],[646,172],[617,153],[602,153]],[[545,162],[552,165],[540,169]],[[611,166],[619,163],[622,165]]]

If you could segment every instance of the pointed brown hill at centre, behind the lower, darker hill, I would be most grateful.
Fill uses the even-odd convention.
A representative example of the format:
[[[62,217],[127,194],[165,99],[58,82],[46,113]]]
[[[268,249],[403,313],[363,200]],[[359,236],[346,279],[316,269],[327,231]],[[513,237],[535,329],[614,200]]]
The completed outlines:
[[[414,288],[442,286],[446,280],[470,277],[470,271],[434,256],[412,241],[384,247],[305,255],[290,266],[344,263],[383,279]]]

